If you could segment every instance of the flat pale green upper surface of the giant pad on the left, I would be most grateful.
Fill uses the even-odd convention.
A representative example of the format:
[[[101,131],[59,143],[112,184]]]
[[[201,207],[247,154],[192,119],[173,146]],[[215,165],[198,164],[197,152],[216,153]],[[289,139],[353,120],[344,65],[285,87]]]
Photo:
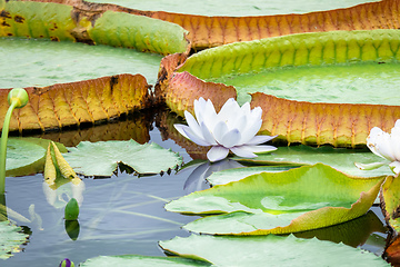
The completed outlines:
[[[119,73],[141,73],[156,83],[161,56],[73,42],[0,38],[1,88],[51,86]]]

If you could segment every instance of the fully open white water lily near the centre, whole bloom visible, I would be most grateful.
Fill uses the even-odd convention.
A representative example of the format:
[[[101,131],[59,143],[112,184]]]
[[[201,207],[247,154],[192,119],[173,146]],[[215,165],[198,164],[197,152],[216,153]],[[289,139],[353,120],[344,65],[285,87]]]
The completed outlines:
[[[254,152],[269,152],[277,148],[260,146],[274,137],[256,136],[261,128],[262,109],[250,109],[247,102],[242,107],[230,98],[222,106],[219,113],[211,100],[199,98],[194,100],[194,117],[184,111],[186,125],[174,125],[174,128],[186,138],[199,146],[212,146],[207,152],[210,161],[224,159],[229,150],[244,158],[254,158]]]

